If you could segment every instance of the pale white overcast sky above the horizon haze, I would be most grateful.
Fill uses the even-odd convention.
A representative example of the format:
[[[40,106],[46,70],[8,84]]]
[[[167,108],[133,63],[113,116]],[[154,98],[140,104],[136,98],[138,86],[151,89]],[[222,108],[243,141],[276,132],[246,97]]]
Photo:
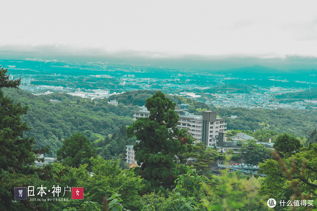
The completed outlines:
[[[317,1],[28,0],[0,8],[0,49],[317,57]]]

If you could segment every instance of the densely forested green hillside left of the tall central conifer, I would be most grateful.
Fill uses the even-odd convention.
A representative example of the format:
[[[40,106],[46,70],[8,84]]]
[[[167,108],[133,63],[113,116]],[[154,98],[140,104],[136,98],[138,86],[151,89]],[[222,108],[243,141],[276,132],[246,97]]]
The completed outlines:
[[[49,145],[54,153],[61,147],[62,140],[72,133],[97,133],[103,136],[118,133],[122,125],[132,124],[133,110],[138,109],[137,106],[110,105],[107,99],[93,102],[61,93],[35,96],[17,89],[3,91],[15,103],[28,106],[28,113],[22,116],[22,121],[26,121],[32,129],[24,134],[35,138],[36,148]],[[52,103],[50,99],[61,102]]]

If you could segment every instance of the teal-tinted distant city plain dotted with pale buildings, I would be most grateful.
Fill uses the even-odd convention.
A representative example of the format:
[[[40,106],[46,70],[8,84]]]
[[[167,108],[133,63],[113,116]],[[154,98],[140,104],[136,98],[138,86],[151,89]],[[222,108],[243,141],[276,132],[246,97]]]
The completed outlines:
[[[16,65],[12,64],[13,61],[10,61],[10,65],[1,61],[0,65],[9,68],[9,73],[15,72],[10,74],[10,79],[21,78],[20,88],[34,95],[64,92],[94,100],[129,90],[162,90],[166,94],[184,96],[210,106],[222,108],[312,110],[317,108],[316,98],[288,99],[288,102],[282,102],[282,98],[278,98],[283,94],[310,90],[311,86],[313,88],[317,84],[314,80],[307,82],[294,79],[291,81],[290,79],[281,79],[281,76],[270,75],[265,79],[266,85],[258,85],[254,83],[256,79],[252,76],[249,78],[245,78],[247,77],[245,75],[236,77],[232,73],[202,72],[198,74],[190,70],[171,69],[169,73],[163,74],[158,70],[150,71],[147,68],[114,66],[101,62],[72,63],[41,59],[27,59],[27,61],[34,62],[34,66],[18,67],[18,65],[23,64],[21,61],[16,61]],[[76,73],[76,71],[79,72]],[[94,72],[98,74],[90,74]],[[100,74],[104,72],[107,74]],[[149,77],[151,75],[152,77]],[[310,79],[316,78],[315,74],[309,73],[307,75]],[[261,77],[260,75],[258,79],[260,82],[265,78]],[[305,78],[307,80],[307,76]],[[230,90],[231,83],[234,83],[235,88]],[[288,85],[292,87],[287,87]]]

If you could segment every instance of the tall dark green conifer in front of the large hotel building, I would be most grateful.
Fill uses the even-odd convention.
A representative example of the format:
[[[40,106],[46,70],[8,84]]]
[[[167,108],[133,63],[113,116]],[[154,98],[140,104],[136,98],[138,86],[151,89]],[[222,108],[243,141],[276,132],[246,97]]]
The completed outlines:
[[[184,152],[192,150],[192,139],[185,130],[179,130],[179,116],[175,103],[157,91],[146,100],[150,116],[139,118],[127,128],[127,135],[139,140],[133,147],[135,159],[141,165],[140,174],[153,188],[171,188],[178,175],[186,173]]]

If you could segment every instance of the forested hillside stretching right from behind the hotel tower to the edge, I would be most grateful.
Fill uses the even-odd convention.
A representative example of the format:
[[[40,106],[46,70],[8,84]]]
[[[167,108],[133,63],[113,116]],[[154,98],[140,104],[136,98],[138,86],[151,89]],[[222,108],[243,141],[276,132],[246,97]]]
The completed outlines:
[[[296,109],[216,108],[217,115],[226,119],[232,130],[273,130],[278,133],[304,135],[304,129],[317,128],[317,112]],[[229,118],[237,115],[235,119]]]

